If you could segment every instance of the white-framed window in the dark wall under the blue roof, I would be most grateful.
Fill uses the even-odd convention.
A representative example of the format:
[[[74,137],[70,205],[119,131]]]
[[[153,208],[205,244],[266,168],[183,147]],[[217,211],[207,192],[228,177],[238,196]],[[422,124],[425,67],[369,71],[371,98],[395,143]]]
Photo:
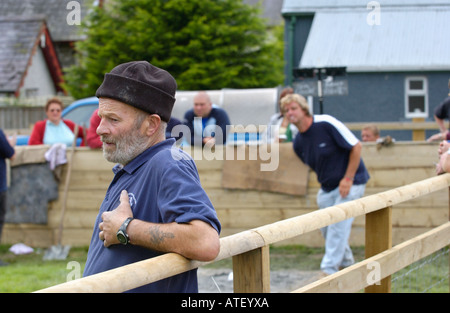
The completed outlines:
[[[406,118],[428,117],[428,84],[426,77],[407,77],[405,80]]]

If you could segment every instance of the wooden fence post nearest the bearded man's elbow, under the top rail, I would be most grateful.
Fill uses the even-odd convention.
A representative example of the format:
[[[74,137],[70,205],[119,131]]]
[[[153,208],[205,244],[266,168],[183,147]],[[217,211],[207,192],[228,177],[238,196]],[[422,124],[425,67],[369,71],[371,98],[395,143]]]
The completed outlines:
[[[270,292],[269,246],[233,256],[233,289],[235,293]]]

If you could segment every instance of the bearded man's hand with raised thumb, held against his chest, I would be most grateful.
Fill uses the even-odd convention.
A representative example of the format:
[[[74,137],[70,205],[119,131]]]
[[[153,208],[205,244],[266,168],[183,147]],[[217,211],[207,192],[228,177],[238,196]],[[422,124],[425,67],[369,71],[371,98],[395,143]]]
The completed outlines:
[[[131,211],[128,192],[122,190],[119,206],[113,211],[103,212],[103,221],[98,226],[100,230],[98,236],[105,247],[119,243],[117,231],[128,217],[133,217],[133,212]]]

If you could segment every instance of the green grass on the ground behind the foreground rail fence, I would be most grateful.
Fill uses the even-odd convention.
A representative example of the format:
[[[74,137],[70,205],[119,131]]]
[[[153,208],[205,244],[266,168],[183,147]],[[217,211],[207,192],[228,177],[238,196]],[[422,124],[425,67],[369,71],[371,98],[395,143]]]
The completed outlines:
[[[0,245],[0,260],[9,265],[0,266],[0,293],[28,293],[64,283],[81,276],[86,262],[87,247],[73,247],[64,261],[43,261],[44,250],[36,249],[28,255],[14,255],[9,245]],[[352,247],[356,262],[364,259],[364,247]],[[270,248],[271,271],[283,269],[311,270],[320,268],[323,248],[305,246],[282,246]],[[396,273],[393,292],[449,292],[448,249],[437,252],[425,262],[417,262]],[[232,268],[231,258],[207,265],[209,268]],[[396,276],[400,278],[395,279]],[[434,286],[436,281],[439,284]],[[429,290],[427,290],[429,288]]]

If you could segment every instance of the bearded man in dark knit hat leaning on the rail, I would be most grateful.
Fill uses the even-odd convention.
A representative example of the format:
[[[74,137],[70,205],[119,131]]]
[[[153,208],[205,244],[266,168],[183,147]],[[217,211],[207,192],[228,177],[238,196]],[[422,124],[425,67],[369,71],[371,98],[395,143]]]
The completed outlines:
[[[200,261],[220,249],[220,223],[192,158],[165,140],[176,82],[148,62],[105,75],[97,90],[103,155],[118,163],[95,222],[84,276],[167,252]],[[197,292],[188,271],[132,290]]]

